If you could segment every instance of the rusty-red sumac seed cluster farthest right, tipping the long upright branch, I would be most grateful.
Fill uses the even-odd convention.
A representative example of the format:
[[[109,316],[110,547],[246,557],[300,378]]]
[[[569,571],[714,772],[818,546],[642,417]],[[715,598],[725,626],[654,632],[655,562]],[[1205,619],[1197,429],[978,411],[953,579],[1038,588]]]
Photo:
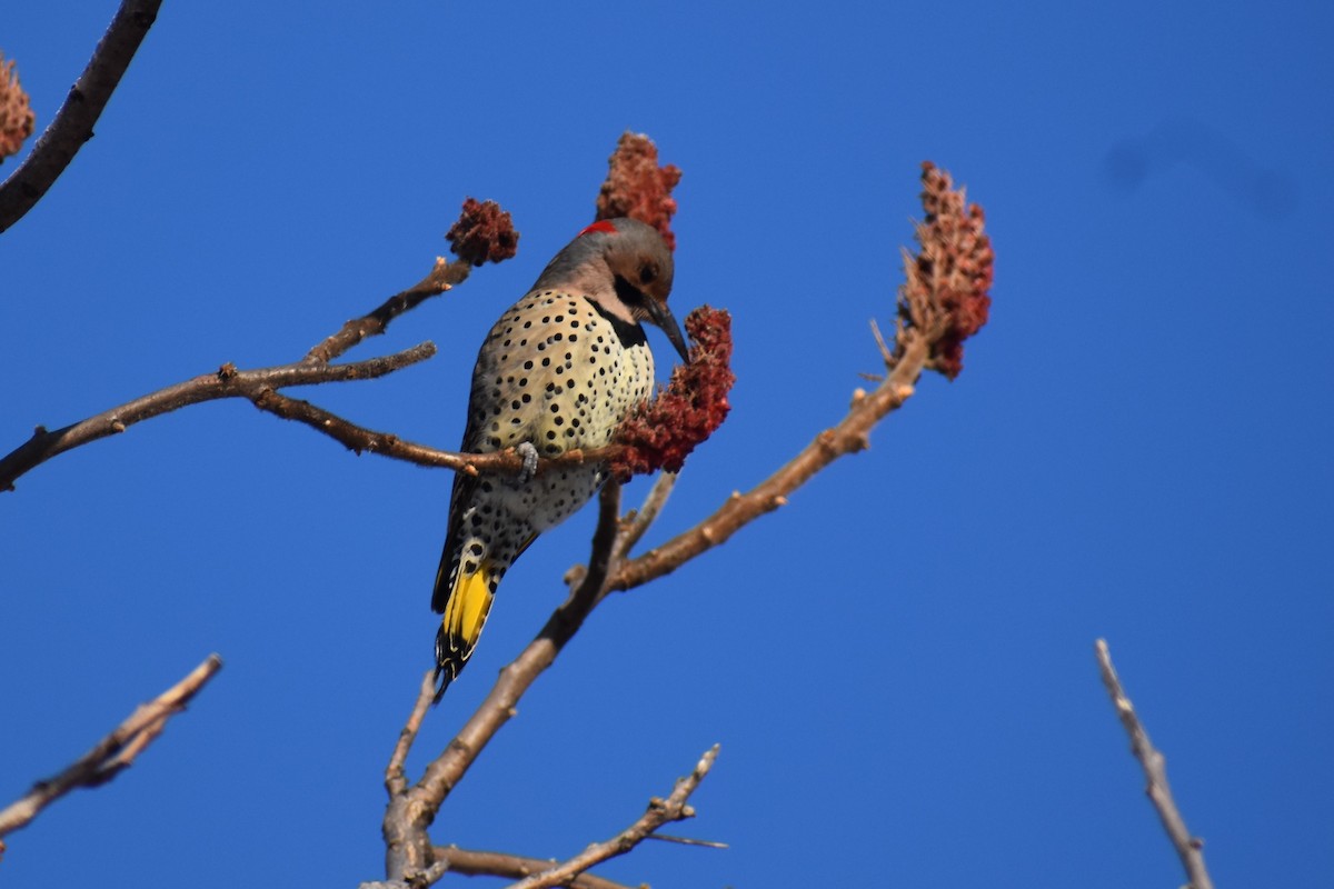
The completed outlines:
[[[967,204],[964,191],[931,161],[922,164],[922,208],[926,219],[915,235],[920,249],[907,257],[899,313],[918,327],[943,315],[946,329],[931,367],[952,380],[963,371],[963,341],[987,323],[995,253],[982,208]]]

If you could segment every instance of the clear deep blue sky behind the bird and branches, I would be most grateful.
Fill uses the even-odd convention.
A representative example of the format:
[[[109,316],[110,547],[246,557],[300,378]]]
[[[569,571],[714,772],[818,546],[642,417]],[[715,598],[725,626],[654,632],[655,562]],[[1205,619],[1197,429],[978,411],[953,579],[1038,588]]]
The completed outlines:
[[[9,5],[0,49],[41,127],[115,4]],[[732,416],[652,544],[876,369],[867,321],[892,315],[922,160],[984,205],[998,255],[959,380],[924,380],[870,452],[600,608],[436,842],[567,857],[720,742],[675,832],[731,848],[650,844],[606,876],[1179,885],[1098,681],[1105,636],[1215,881],[1334,881],[1334,12],[297,7],[167,0],[96,139],[0,236],[0,449],[224,361],[297,359],[416,281],[474,195],[515,215],[519,257],[350,357],[440,355],[295,392],[454,446],[478,343],[591,219],[628,128],[684,171],[678,316],[723,305],[736,337]],[[448,488],[216,403],[3,494],[5,802],[225,660],[129,773],[9,838],[5,884],[379,877]],[[507,576],[411,766],[560,601],[592,518]]]

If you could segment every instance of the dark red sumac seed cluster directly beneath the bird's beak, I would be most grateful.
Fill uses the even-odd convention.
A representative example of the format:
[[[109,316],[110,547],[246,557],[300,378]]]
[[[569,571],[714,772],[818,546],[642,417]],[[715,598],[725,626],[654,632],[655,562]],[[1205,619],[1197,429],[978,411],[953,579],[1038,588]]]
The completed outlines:
[[[667,388],[639,405],[616,431],[623,453],[611,462],[622,481],[632,474],[679,472],[686,457],[727,419],[732,375],[732,317],[702,305],[686,316],[690,361],[672,369]]]

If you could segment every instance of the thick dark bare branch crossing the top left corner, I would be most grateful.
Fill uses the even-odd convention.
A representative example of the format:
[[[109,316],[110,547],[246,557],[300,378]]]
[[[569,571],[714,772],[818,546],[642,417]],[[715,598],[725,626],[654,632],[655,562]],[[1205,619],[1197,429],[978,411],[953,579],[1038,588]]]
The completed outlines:
[[[36,205],[92,139],[92,128],[157,19],[161,0],[124,0],[32,153],[0,184],[0,232]]]

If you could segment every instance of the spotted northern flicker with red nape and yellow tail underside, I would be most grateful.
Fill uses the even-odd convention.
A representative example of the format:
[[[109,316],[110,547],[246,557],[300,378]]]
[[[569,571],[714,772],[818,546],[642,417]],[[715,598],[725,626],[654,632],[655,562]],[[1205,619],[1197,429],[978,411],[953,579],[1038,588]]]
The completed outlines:
[[[431,608],[444,614],[435,641],[436,700],[482,634],[496,586],[543,530],[586,504],[607,478],[582,464],[534,476],[538,456],[600,448],[654,387],[648,321],[686,359],[667,308],[672,256],[632,219],[594,223],[547,265],[487,335],[472,371],[463,450],[516,448],[519,476],[456,473]]]

